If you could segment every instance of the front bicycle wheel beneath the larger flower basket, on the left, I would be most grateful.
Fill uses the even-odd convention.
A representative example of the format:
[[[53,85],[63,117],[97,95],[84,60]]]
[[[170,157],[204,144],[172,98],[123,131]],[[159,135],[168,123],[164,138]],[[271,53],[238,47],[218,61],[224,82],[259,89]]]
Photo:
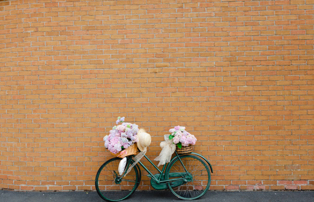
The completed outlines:
[[[126,167],[133,163],[133,160],[130,158],[128,157]],[[95,187],[98,195],[104,200],[119,201],[126,199],[134,193],[140,183],[137,166],[132,167],[130,173],[123,178],[119,175],[118,167],[120,161],[121,158],[111,158],[97,172]]]

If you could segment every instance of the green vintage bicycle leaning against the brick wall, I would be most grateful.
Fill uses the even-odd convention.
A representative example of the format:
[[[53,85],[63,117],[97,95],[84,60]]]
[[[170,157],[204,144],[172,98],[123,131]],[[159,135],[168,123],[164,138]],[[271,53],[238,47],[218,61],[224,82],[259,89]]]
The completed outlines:
[[[139,161],[131,172],[127,170],[134,162],[132,157],[127,157],[126,169],[119,175],[118,167],[121,158],[115,157],[102,164],[97,172],[95,186],[99,196],[107,201],[119,201],[131,196],[141,181],[141,170],[138,164],[148,173],[151,178],[150,184],[154,189],[169,188],[172,193],[185,200],[193,200],[203,196],[209,189],[213,169],[209,161],[198,153],[188,153],[175,156],[169,163],[164,164],[163,169],[150,162],[158,174],[153,175],[146,166]]]

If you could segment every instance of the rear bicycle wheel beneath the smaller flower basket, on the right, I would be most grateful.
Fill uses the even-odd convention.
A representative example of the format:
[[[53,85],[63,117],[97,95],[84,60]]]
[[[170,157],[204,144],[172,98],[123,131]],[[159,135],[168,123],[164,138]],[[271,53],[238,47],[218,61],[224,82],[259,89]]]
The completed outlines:
[[[208,191],[211,175],[208,165],[202,159],[184,155],[170,162],[166,179],[174,180],[168,183],[174,195],[184,200],[193,200]]]

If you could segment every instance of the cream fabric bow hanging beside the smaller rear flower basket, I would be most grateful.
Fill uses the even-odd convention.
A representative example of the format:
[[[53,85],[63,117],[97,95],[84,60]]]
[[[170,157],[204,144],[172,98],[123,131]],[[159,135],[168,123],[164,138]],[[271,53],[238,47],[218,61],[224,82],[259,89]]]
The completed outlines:
[[[165,141],[160,143],[160,147],[163,150],[160,152],[159,156],[154,159],[159,160],[158,166],[170,162],[171,155],[176,151],[176,145],[173,144],[172,140],[169,140],[169,134],[165,134],[164,139]]]

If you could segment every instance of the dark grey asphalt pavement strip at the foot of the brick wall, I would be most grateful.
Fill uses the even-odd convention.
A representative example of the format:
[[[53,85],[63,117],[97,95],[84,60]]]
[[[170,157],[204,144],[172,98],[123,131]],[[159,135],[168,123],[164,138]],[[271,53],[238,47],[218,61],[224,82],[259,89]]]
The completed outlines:
[[[0,202],[102,202],[96,191],[36,192],[0,190]],[[183,201],[171,191],[135,191],[125,202]],[[194,201],[313,202],[314,191],[208,191]]]

